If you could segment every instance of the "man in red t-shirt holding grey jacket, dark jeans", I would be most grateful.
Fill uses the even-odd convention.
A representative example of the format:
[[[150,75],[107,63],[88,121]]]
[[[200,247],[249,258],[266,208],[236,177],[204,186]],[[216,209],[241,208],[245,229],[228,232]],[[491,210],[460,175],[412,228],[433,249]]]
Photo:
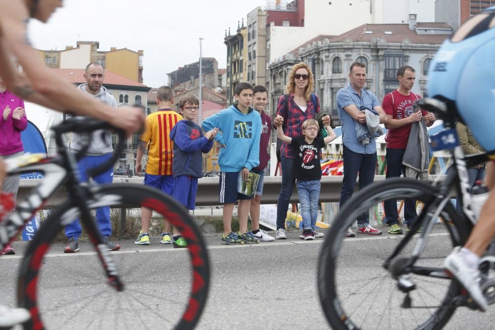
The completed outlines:
[[[412,123],[424,120],[427,127],[435,122],[435,114],[415,108],[414,102],[421,98],[418,94],[412,93],[414,80],[416,79],[415,70],[404,65],[397,70],[397,79],[399,88],[385,95],[382,107],[389,121],[385,124],[388,129],[385,141],[387,142],[387,175],[386,178],[400,177],[401,172],[405,173],[405,166],[402,165],[411,132]],[[402,234],[402,229],[398,225],[397,202],[396,200],[385,201],[385,216],[389,226],[388,233],[393,235]],[[416,201],[406,199],[404,201],[404,219],[407,225],[407,231],[411,228],[417,218]]]

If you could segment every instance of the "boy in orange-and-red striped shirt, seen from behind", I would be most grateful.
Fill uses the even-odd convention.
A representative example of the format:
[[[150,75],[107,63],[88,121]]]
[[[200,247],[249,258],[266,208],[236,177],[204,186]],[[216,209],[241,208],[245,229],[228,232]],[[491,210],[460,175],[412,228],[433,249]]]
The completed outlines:
[[[145,148],[148,147],[144,184],[173,196],[173,142],[170,140],[170,131],[179,120],[182,120],[182,116],[172,110],[174,91],[168,86],[162,86],[158,89],[156,104],[158,105],[158,110],[146,117],[145,130],[140,137],[136,156],[136,174],[142,171],[141,159]],[[150,221],[151,210],[143,207],[141,209],[141,232],[134,242],[135,244],[149,245],[148,230]],[[175,239],[172,239],[170,237],[170,224],[165,220],[161,243],[174,243],[174,247],[186,247],[185,240],[180,236],[177,229],[174,229],[174,234]]]

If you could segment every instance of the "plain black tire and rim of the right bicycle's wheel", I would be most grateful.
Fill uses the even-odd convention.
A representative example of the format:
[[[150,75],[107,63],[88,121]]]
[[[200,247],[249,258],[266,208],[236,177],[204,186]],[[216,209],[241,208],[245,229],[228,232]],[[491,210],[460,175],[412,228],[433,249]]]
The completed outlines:
[[[427,315],[428,318],[426,319],[426,321],[423,320],[420,320],[419,322],[416,321],[416,325],[407,324],[405,327],[404,324],[400,325],[400,327],[391,326],[390,319],[388,321],[389,322],[388,327],[385,326],[380,327],[380,325],[382,324],[382,319],[378,320],[379,318],[374,316],[370,317],[370,319],[373,319],[373,321],[376,322],[379,321],[380,323],[378,324],[378,327],[374,327],[374,326],[372,327],[370,326],[369,323],[366,323],[367,321],[360,320],[360,318],[362,318],[362,314],[364,313],[358,315],[357,309],[355,311],[356,312],[355,316],[354,315],[349,316],[349,314],[347,314],[346,309],[351,309],[351,307],[352,308],[354,307],[354,305],[350,303],[350,300],[354,299],[354,301],[356,301],[355,299],[358,299],[359,297],[352,298],[350,297],[350,295],[348,297],[345,296],[346,292],[342,292],[343,291],[342,289],[338,289],[337,286],[339,283],[336,282],[336,278],[342,276],[341,274],[338,274],[339,256],[343,254],[343,251],[341,250],[342,241],[345,238],[345,233],[347,228],[350,227],[351,223],[353,222],[353,220],[356,219],[357,215],[361,214],[363,210],[366,209],[368,206],[372,207],[373,205],[375,205],[375,202],[377,201],[382,201],[392,198],[402,199],[405,197],[409,197],[409,198],[412,197],[425,203],[424,207],[426,207],[426,205],[430,203],[437,194],[438,194],[438,188],[433,187],[427,183],[421,182],[419,180],[413,180],[407,178],[394,178],[394,179],[388,179],[383,182],[374,183],[368,187],[365,187],[364,189],[361,189],[359,192],[355,193],[352,196],[352,198],[347,201],[347,204],[344,205],[344,207],[340,210],[334,223],[332,224],[332,227],[328,235],[325,237],[325,241],[323,243],[322,250],[319,256],[319,262],[318,262],[317,282],[318,282],[318,293],[319,293],[320,303],[323,308],[325,317],[328,323],[330,324],[330,326],[332,327],[332,329],[336,329],[336,330],[364,329],[364,328],[368,328],[368,326],[369,329],[384,329],[384,328],[411,329],[410,327],[412,326],[413,329],[439,330],[446,325],[450,317],[453,315],[455,308],[441,307],[441,306],[450,306],[452,299],[459,294],[460,287],[458,283],[456,283],[456,281],[434,279],[434,280],[439,280],[439,282],[449,281],[449,283],[446,283],[448,287],[446,288],[445,296],[442,296],[441,298],[442,300],[439,300],[439,302],[441,302],[441,305],[438,306],[439,307],[438,309],[434,311],[430,311],[430,313]],[[388,197],[385,198],[386,196]],[[442,217],[444,218],[450,217],[450,219],[452,217],[455,217],[456,215],[457,213],[455,212],[450,202],[446,204],[446,206],[444,207],[441,213]],[[449,231],[449,239],[451,244],[452,245],[459,244],[460,242],[457,241],[459,236],[455,233],[456,231],[455,227],[454,226],[446,226],[446,227],[448,228]],[[383,239],[383,236],[380,236],[380,238],[381,241],[386,241]],[[385,238],[391,238],[391,237],[385,237]],[[353,239],[359,240],[359,238],[348,238],[346,241],[350,241]],[[408,244],[411,244],[411,241],[408,242]],[[392,253],[392,251],[393,250],[390,250],[389,252]],[[441,258],[439,258],[439,260],[440,259]],[[344,268],[344,266],[342,268]],[[388,271],[384,270],[383,268],[382,270],[386,272],[387,275],[390,275]],[[383,277],[378,277],[378,278],[381,280],[380,281],[381,283],[387,281],[384,280]],[[394,283],[396,283],[396,280],[393,280],[392,277],[389,276],[389,278],[390,281],[395,281]],[[423,277],[423,279],[426,278]],[[432,278],[428,278],[428,280],[426,281],[429,281],[430,279]],[[423,282],[418,281],[418,285],[422,285],[422,284]],[[381,284],[381,285],[383,286],[385,284]],[[344,286],[346,286],[346,284]],[[359,295],[360,294],[359,291],[357,292],[358,293],[355,294]],[[371,293],[368,294],[370,299],[377,299],[378,294],[381,294],[380,290],[378,289],[376,292],[374,292],[375,294],[373,294],[373,291],[370,292]],[[392,292],[393,291],[390,291],[389,300],[391,298],[395,298]],[[341,297],[339,297],[339,295],[341,295]],[[368,296],[366,296],[365,298],[367,298]],[[426,300],[432,299],[431,297],[428,296],[428,292],[427,294],[425,294],[425,296],[426,296]],[[347,299],[349,299],[348,303],[347,303]],[[343,307],[343,302],[345,302],[349,306]],[[390,302],[391,301],[389,301],[389,303]],[[423,302],[426,303],[424,298],[423,298]],[[365,304],[364,301],[363,301],[363,305],[368,306]],[[394,304],[389,304],[389,305],[395,307]],[[367,314],[369,314],[371,308],[372,307],[369,307]],[[393,312],[391,312],[391,310],[383,311],[383,313],[390,313],[390,315],[392,315]],[[389,317],[392,318],[392,316]],[[408,315],[408,317],[410,317],[410,315]],[[355,318],[355,320],[359,320],[359,322],[357,321],[354,322],[352,318]],[[366,317],[364,317],[364,319],[366,319]],[[402,311],[400,311],[400,316],[396,314],[396,319],[399,320],[403,319]],[[398,321],[394,320],[393,322],[398,322]],[[358,325],[356,323],[361,323],[361,325]],[[364,326],[365,323],[366,326]]]

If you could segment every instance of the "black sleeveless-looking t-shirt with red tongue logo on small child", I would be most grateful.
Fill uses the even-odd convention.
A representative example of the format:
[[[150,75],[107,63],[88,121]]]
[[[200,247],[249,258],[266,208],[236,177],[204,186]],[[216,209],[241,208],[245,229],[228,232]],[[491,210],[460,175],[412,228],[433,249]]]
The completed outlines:
[[[311,181],[321,179],[320,150],[325,146],[323,138],[308,143],[304,137],[292,138],[294,148],[294,179]]]

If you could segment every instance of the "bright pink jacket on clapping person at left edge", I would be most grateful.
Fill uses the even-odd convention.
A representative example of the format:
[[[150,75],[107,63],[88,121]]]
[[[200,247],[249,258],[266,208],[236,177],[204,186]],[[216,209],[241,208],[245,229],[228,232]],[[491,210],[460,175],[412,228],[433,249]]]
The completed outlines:
[[[10,107],[7,120],[3,120],[3,110]],[[5,91],[0,93],[0,155],[7,156],[23,151],[21,132],[28,126],[26,116],[21,119],[12,119],[12,114],[17,107],[24,108],[24,100],[16,95]]]

